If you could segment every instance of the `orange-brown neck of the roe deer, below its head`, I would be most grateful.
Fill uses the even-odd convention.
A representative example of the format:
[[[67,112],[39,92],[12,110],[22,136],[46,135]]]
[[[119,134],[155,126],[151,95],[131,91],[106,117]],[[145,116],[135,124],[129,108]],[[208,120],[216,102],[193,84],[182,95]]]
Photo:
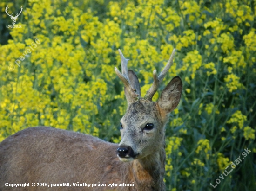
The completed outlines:
[[[137,191],[163,191],[165,172],[165,143],[162,148],[147,157],[127,164],[125,182],[134,182]]]

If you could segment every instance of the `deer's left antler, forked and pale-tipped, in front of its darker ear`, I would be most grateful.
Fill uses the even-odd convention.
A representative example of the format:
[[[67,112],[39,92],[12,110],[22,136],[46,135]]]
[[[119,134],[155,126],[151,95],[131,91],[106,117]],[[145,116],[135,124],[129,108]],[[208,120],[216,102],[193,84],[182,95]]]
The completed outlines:
[[[130,71],[128,72],[128,68],[127,68],[129,59],[126,59],[123,56],[120,49],[118,49],[118,51],[119,51],[119,54],[121,57],[122,73],[116,67],[115,67],[115,73],[121,79],[121,81],[124,83],[124,91],[125,91],[126,99],[128,100],[128,102],[134,102],[134,101],[138,100],[140,95],[136,93],[137,90],[134,87],[132,87],[131,81],[129,79]],[[138,90],[138,91],[140,91],[140,90]]]

